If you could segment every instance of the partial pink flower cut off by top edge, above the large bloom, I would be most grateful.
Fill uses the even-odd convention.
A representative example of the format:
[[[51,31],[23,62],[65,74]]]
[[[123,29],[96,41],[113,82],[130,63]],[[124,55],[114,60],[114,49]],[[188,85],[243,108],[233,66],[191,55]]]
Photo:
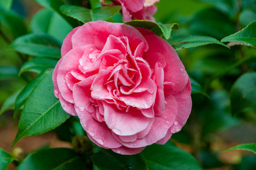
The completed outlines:
[[[101,0],[101,2],[104,0]],[[155,21],[152,15],[157,11],[159,0],[111,0],[114,4],[122,6],[123,22],[133,20]],[[104,4],[104,3],[101,3]]]

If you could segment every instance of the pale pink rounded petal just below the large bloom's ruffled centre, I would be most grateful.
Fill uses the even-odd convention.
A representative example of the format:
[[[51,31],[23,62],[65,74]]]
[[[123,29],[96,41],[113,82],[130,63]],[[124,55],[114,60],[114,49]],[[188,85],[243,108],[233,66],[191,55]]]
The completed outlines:
[[[147,128],[150,119],[145,117],[135,108],[130,111],[120,111],[116,106],[104,103],[104,118],[106,125],[116,135],[135,135]]]

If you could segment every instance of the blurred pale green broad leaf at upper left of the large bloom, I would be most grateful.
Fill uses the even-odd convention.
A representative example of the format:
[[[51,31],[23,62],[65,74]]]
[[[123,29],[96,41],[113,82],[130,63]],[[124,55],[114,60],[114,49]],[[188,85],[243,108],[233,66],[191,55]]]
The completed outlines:
[[[59,14],[43,8],[33,16],[30,29],[33,33],[48,33],[62,42],[72,27]]]

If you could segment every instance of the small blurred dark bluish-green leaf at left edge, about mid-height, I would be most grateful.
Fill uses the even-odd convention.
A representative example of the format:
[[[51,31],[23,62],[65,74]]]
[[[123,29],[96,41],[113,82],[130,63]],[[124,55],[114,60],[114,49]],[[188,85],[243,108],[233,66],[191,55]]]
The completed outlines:
[[[0,80],[18,77],[18,69],[11,66],[0,66]]]

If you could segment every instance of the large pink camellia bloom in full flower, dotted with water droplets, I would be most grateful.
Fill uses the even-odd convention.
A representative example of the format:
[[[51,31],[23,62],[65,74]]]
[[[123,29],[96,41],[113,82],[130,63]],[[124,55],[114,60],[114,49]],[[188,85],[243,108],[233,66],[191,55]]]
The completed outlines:
[[[171,45],[150,30],[94,21],[65,38],[52,74],[62,108],[89,139],[119,154],[165,144],[191,111],[191,84]]]

